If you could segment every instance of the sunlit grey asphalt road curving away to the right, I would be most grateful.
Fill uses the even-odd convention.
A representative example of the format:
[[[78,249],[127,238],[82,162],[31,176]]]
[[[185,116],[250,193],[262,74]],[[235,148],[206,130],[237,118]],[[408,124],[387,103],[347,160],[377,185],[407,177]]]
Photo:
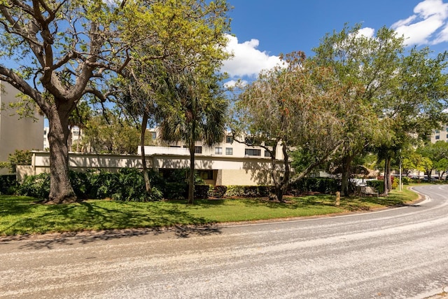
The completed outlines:
[[[276,223],[3,239],[0,298],[426,298],[448,291],[448,186]]]

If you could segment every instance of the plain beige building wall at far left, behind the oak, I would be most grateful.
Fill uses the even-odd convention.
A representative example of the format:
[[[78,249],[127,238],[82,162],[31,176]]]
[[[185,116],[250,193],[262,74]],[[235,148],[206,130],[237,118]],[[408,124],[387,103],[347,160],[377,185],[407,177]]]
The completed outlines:
[[[43,148],[43,116],[19,119],[15,111],[7,109],[10,102],[16,101],[18,90],[0,81],[0,161],[8,161],[8,155],[18,150],[41,150]]]

